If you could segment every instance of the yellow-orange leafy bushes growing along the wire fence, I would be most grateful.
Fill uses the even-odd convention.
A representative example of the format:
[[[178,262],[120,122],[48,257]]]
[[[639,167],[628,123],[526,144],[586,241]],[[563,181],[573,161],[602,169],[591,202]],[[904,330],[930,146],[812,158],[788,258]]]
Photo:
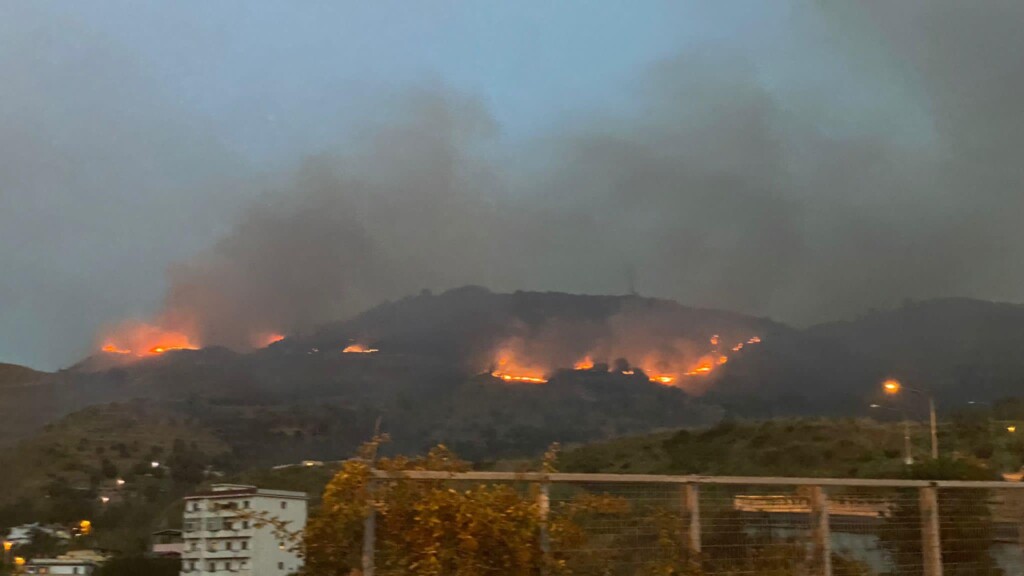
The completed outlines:
[[[328,485],[304,540],[305,573],[342,576],[359,567],[364,522],[376,516],[376,565],[381,573],[415,576],[790,576],[805,569],[806,548],[748,534],[731,509],[719,509],[701,558],[688,557],[681,504],[630,493],[553,486],[545,523],[537,486],[447,481],[376,481],[370,462],[347,462]],[[556,454],[550,450],[545,469]],[[385,470],[463,471],[467,464],[443,446],[422,458],[382,459]],[[673,494],[678,495],[678,490]],[[677,496],[678,497],[678,496]],[[670,500],[671,501],[671,500]],[[550,553],[543,552],[547,527]],[[718,532],[715,532],[715,530]],[[837,575],[862,576],[864,567],[836,557]]]

